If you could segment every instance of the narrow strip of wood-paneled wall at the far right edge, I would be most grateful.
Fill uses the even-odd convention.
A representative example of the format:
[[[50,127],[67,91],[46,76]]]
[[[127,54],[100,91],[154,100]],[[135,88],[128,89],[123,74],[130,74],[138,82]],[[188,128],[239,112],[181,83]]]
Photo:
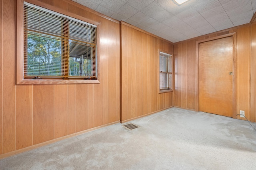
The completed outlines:
[[[256,19],[252,22],[251,121],[256,122]]]

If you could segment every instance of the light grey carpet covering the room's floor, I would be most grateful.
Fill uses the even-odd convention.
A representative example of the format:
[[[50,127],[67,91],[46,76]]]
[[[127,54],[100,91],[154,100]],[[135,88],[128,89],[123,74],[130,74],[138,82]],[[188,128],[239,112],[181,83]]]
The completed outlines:
[[[131,122],[139,128],[104,127],[4,158],[0,169],[256,170],[247,121],[172,107]]]

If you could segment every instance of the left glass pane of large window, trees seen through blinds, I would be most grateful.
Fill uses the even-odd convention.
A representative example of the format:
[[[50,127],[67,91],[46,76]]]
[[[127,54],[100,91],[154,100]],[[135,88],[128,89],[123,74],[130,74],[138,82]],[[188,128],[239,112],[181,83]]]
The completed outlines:
[[[57,76],[61,74],[61,41],[60,38],[33,33],[27,34],[28,76]]]

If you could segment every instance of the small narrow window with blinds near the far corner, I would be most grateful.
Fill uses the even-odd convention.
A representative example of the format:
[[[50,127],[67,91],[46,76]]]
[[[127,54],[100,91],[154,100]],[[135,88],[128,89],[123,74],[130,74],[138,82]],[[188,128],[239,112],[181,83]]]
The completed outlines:
[[[159,87],[160,90],[169,90],[172,88],[172,55],[159,53]]]

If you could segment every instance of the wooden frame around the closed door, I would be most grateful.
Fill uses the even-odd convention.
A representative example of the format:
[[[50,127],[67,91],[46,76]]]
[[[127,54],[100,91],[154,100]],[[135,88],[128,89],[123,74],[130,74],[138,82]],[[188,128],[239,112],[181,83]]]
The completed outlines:
[[[199,111],[199,44],[226,37],[233,37],[232,118],[236,119],[236,32],[196,41],[195,109],[196,111]]]

